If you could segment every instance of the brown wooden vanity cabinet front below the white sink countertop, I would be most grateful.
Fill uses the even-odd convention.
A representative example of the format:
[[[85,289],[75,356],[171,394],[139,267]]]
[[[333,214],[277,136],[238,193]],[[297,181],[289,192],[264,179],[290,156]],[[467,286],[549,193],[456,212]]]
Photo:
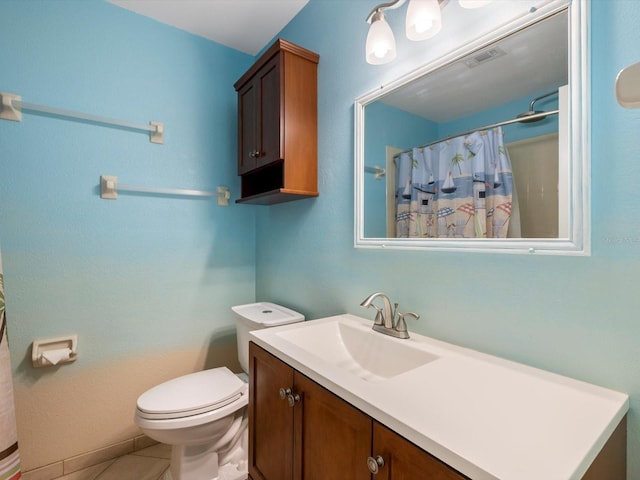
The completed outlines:
[[[254,343],[249,358],[252,480],[467,478]]]

